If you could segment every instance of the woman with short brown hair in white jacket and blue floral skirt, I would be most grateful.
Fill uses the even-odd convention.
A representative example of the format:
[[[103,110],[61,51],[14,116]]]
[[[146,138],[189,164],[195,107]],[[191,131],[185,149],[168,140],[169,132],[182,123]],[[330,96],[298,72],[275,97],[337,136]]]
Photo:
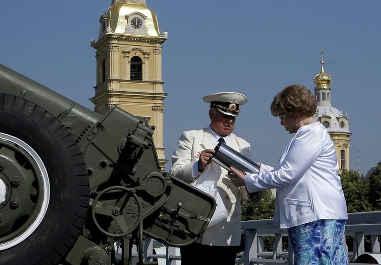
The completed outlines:
[[[276,168],[261,165],[244,175],[231,167],[229,177],[249,193],[277,189],[274,222],[288,228],[294,264],[348,264],[344,250],[347,205],[333,142],[312,116],[316,99],[303,85],[284,88],[271,103],[271,114],[295,133]]]

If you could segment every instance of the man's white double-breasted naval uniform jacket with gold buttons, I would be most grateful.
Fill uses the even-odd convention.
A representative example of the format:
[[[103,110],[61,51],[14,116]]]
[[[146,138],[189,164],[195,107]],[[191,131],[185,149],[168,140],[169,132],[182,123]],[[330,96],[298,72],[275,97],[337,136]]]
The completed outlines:
[[[217,190],[228,210],[228,218],[210,228],[208,227],[203,235],[202,244],[211,246],[238,246],[240,244],[242,213],[240,194],[242,193],[248,199],[245,188],[239,189],[235,187],[226,176],[228,171],[213,162],[206,166],[204,172],[199,175],[196,181],[192,177],[193,166],[197,163],[201,151],[214,149],[217,145],[210,130],[208,127],[203,130],[187,131],[181,135],[179,144],[172,155],[170,173],[195,187],[197,187],[197,180],[203,175],[213,174],[216,176],[216,180],[218,180]],[[244,139],[231,133],[227,144],[244,156],[251,158],[250,144]]]

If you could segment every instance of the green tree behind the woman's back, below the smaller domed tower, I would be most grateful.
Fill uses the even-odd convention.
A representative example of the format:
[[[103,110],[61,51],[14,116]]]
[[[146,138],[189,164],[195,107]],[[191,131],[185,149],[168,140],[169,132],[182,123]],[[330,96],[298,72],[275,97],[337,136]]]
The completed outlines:
[[[340,177],[348,212],[371,211],[369,185],[365,183],[359,172],[343,170]]]

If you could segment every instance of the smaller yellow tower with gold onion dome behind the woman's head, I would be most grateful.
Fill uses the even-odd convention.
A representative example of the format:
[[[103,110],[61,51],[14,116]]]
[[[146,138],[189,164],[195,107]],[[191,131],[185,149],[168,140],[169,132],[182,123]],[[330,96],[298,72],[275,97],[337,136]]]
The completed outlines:
[[[332,78],[324,72],[323,51],[321,51],[321,69],[314,78],[315,97],[317,100],[317,109],[314,118],[318,120],[327,129],[335,145],[339,169],[349,170],[349,132],[348,115],[343,115],[342,111],[331,106],[331,87]]]

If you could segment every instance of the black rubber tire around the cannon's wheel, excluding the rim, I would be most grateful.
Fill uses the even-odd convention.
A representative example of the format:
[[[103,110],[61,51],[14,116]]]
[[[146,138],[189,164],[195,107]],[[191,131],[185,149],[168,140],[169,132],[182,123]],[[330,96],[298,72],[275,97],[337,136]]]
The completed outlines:
[[[42,159],[50,182],[44,219],[20,244],[0,252],[1,265],[56,265],[82,232],[89,202],[89,180],[75,138],[48,111],[0,93],[0,132],[17,137]]]

